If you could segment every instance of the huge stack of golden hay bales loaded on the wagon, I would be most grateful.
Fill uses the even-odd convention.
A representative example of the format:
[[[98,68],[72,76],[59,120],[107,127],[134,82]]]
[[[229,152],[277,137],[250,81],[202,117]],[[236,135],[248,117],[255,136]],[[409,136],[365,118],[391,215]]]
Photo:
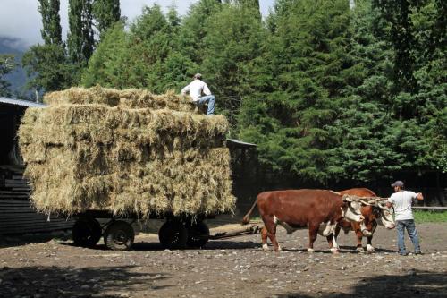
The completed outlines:
[[[29,108],[19,130],[36,208],[126,216],[232,212],[223,115],[173,93],[68,89]]]

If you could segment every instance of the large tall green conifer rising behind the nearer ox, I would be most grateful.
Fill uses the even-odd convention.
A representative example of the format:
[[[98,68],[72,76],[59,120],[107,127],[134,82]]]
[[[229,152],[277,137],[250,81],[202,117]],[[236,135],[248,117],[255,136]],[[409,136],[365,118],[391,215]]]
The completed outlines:
[[[252,73],[257,92],[242,104],[240,137],[258,144],[271,169],[327,183],[337,143],[328,125],[342,89],[357,80],[348,2],[281,1],[270,24]]]

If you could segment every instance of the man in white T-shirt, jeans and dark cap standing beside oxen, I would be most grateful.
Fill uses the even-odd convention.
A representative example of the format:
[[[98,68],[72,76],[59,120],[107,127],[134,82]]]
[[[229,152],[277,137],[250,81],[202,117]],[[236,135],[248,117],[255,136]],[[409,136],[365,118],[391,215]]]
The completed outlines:
[[[421,254],[419,246],[419,236],[417,235],[415,219],[413,217],[413,210],[411,205],[413,200],[424,200],[422,193],[409,192],[403,190],[403,182],[396,181],[392,183],[394,193],[388,199],[386,206],[388,208],[393,207],[396,216],[396,229],[397,229],[397,245],[399,254],[406,256],[409,253],[405,249],[404,232],[407,229],[409,233],[409,239],[415,247],[415,254]]]

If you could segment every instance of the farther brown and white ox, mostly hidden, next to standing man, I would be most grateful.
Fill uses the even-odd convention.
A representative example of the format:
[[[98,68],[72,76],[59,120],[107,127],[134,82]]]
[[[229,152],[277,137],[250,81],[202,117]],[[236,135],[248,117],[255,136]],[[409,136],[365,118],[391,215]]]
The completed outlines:
[[[355,195],[358,197],[377,197],[375,192],[367,188],[351,188],[339,192],[340,194]],[[373,234],[377,224],[385,226],[387,229],[393,229],[396,225],[394,222],[394,217],[392,216],[392,209],[385,206],[384,202],[377,202],[376,206],[362,206],[361,214],[365,217],[362,223],[352,222],[343,219],[335,228],[335,233],[333,234],[333,246],[338,248],[337,237],[340,234],[340,230],[343,229],[345,234],[350,231],[354,231],[357,237],[357,251],[363,252],[362,239],[364,236],[367,237],[367,252],[375,252],[373,247]],[[327,238],[328,241],[331,240],[332,235]]]

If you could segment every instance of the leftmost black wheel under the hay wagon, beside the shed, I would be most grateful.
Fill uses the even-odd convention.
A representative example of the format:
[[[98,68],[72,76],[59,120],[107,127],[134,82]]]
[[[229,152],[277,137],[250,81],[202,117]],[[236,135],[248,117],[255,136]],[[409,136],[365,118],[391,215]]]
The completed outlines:
[[[101,239],[101,225],[95,218],[80,217],[72,227],[72,239],[75,245],[94,247]]]

